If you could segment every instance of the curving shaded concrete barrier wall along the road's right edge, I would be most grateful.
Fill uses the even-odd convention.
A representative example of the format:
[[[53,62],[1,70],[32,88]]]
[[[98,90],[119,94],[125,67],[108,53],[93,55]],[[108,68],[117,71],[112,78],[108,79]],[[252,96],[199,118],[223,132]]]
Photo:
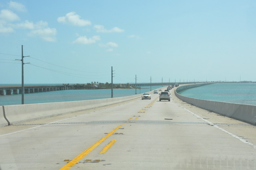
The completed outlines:
[[[175,95],[180,100],[183,100],[196,107],[224,115],[226,117],[231,117],[246,123],[250,123],[252,125],[256,125],[256,106],[254,105],[194,99],[180,95],[178,92],[182,91],[182,89],[185,90],[188,88],[181,87],[175,90]]]

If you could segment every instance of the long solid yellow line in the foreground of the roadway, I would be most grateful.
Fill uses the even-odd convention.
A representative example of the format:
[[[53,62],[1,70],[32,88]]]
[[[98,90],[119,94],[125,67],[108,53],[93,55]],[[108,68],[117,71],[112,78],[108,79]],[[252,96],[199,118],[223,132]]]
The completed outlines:
[[[60,168],[60,170],[69,170],[74,164],[77,164],[79,160],[81,160],[83,157],[85,157],[89,152],[95,149],[95,147],[99,146],[103,141],[105,141],[109,136],[113,135],[115,131],[117,131],[120,127],[117,127],[116,129],[113,129],[110,133],[108,133],[105,137],[101,138],[101,140],[97,141],[95,144],[90,146],[88,149],[80,153],[76,158],[71,160],[69,163],[67,163],[65,166]]]

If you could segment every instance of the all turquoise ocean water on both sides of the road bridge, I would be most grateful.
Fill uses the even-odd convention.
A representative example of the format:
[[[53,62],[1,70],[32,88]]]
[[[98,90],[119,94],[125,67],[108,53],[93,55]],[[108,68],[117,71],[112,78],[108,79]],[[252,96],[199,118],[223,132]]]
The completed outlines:
[[[17,84],[12,84],[17,85]],[[9,84],[9,86],[12,86]],[[28,84],[33,85],[33,84]],[[34,84],[35,85],[35,84]],[[40,84],[42,85],[42,84]],[[46,84],[44,84],[46,85]],[[48,85],[48,84],[47,84]],[[6,84],[0,84],[6,86]],[[18,86],[18,85],[17,85]],[[137,94],[150,91],[150,86],[137,89]],[[161,86],[152,86],[152,90]],[[135,89],[114,89],[113,97],[134,95]],[[246,105],[256,105],[256,83],[214,83],[198,88],[191,88],[179,94],[202,100],[223,101],[229,103],[239,103]],[[61,90],[51,92],[41,92],[25,94],[25,104],[49,103],[78,100],[106,99],[111,97],[111,89],[99,90]],[[0,106],[20,105],[21,94],[0,95]]]

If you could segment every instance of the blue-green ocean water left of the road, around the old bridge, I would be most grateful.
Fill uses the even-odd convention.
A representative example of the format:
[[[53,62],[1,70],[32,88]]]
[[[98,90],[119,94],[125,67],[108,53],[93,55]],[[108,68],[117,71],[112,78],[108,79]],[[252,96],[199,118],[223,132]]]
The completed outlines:
[[[49,85],[49,84],[25,84],[30,85]],[[53,85],[53,84],[50,84]],[[58,84],[54,84],[58,85]],[[0,84],[0,86],[20,86],[19,84]],[[151,86],[151,89],[158,89],[162,86]],[[150,91],[150,86],[137,87],[137,94]],[[113,89],[113,97],[123,97],[135,95],[135,89]],[[0,106],[20,105],[21,94],[0,95]],[[91,89],[91,90],[60,90],[50,92],[39,92],[24,94],[24,104],[51,103],[63,101],[79,101],[111,98],[111,89]]]

